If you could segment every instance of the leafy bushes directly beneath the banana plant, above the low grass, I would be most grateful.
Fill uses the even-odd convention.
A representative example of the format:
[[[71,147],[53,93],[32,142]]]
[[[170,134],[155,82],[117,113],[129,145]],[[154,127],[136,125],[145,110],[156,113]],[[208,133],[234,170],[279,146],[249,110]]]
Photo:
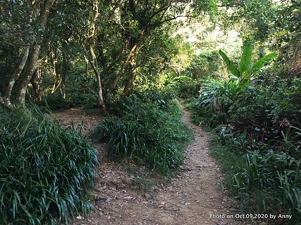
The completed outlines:
[[[203,83],[193,110],[211,127],[230,125],[231,133],[246,132],[256,141],[275,141],[282,138],[280,130],[301,126],[300,89],[297,78],[242,84],[233,79],[209,79]]]

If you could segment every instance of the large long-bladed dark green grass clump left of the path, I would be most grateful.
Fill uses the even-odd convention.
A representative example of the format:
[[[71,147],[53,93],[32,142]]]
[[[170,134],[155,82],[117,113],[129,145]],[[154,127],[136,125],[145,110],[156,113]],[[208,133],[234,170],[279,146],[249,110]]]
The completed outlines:
[[[0,113],[0,223],[68,224],[88,212],[96,150],[38,109]]]

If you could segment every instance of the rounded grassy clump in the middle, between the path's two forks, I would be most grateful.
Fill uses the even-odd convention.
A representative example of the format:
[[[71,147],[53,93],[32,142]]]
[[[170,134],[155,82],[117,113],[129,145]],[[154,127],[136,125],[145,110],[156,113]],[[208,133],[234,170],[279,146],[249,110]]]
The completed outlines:
[[[114,159],[130,159],[167,174],[183,161],[191,131],[170,90],[135,91],[111,105],[111,116],[100,121],[94,138],[109,145]]]

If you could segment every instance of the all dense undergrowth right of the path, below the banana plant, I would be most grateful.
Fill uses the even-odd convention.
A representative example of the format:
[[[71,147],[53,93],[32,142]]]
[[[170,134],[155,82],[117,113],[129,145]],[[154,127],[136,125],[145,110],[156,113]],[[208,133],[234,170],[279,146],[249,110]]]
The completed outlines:
[[[242,207],[301,220],[301,79],[264,69],[252,82],[207,79],[188,101],[196,123],[216,131],[212,154]],[[218,141],[217,141],[218,140]],[[216,143],[220,143],[216,145]]]

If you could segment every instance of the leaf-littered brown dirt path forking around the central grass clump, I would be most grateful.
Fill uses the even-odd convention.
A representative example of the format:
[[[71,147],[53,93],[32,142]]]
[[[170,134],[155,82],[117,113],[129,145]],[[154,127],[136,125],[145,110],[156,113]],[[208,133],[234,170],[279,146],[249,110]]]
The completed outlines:
[[[55,112],[55,116],[62,126],[83,121],[84,133],[101,118],[97,111],[83,108]],[[154,185],[146,192],[135,188],[141,173],[110,161],[105,156],[106,146],[94,143],[100,150],[99,177],[91,193],[95,211],[77,216],[72,224],[242,224],[235,220],[235,210],[227,206],[227,197],[218,189],[221,172],[209,155],[208,133],[190,121],[185,109],[182,119],[195,134],[185,150],[182,171],[171,182]],[[234,215],[234,219],[210,218],[210,214]]]

